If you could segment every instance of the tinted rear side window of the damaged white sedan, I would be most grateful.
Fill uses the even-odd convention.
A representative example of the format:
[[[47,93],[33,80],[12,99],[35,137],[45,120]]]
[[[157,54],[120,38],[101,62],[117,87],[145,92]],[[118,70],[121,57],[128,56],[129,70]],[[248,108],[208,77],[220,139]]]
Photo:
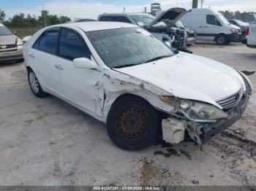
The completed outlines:
[[[34,43],[33,48],[55,55],[58,44],[59,28],[45,31]]]

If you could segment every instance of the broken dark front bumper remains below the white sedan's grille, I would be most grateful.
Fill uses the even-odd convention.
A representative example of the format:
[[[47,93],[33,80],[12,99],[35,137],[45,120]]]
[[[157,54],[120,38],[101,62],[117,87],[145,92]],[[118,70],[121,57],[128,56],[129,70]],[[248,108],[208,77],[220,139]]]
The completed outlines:
[[[225,120],[219,120],[214,124],[208,124],[204,127],[198,126],[200,128],[200,141],[202,144],[205,144],[209,141],[213,136],[216,136],[219,133],[222,133],[223,130],[229,128],[233,125],[236,121],[241,119],[241,115],[244,114],[246,107],[249,102],[249,94],[244,93],[243,98],[241,99],[240,103],[230,111],[228,111],[229,117]],[[198,131],[197,131],[198,132]]]

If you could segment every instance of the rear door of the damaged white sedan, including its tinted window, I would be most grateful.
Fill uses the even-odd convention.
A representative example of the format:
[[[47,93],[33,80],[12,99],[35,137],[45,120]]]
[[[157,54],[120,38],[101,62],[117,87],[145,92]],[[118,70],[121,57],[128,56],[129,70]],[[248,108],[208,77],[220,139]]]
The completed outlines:
[[[28,50],[29,66],[37,74],[44,90],[58,92],[59,75],[56,65],[59,57],[56,56],[59,37],[59,28],[50,28],[45,31],[33,46]]]

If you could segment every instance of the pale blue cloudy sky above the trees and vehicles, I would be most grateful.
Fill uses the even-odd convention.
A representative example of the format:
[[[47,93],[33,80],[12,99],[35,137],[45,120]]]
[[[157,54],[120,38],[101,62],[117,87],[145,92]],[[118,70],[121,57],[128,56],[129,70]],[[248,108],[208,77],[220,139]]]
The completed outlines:
[[[200,1],[200,0],[199,0]],[[252,11],[256,12],[256,0],[204,0],[203,7],[214,10]],[[7,17],[18,12],[39,15],[42,4],[50,14],[65,15],[75,18],[97,18],[104,12],[142,12],[144,7],[150,10],[150,4],[159,2],[162,9],[183,7],[190,9],[192,0],[0,0],[0,9]]]

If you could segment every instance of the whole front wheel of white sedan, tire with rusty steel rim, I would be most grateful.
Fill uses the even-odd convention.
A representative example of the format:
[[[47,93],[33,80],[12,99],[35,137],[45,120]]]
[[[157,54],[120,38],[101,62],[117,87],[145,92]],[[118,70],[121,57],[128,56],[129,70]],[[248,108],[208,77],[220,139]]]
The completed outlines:
[[[108,136],[117,147],[126,150],[154,144],[160,125],[157,111],[143,99],[132,96],[116,101],[107,119]]]

